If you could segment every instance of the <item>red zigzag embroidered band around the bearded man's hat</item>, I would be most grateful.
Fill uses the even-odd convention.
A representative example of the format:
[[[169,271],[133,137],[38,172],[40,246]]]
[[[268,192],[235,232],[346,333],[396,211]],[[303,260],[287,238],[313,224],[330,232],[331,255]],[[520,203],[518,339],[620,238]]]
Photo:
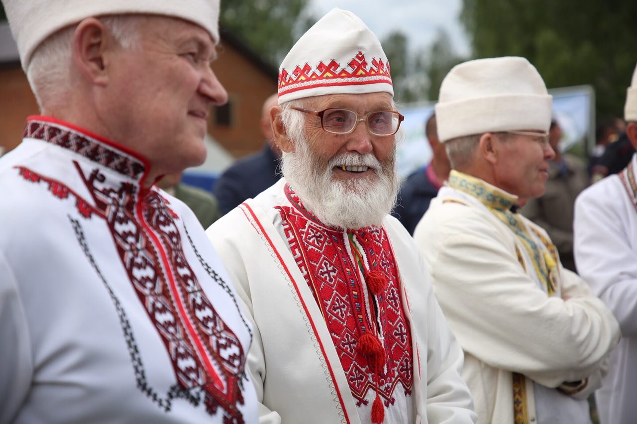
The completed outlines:
[[[282,69],[278,76],[278,94],[281,96],[306,88],[376,83],[392,85],[389,62],[373,57],[369,64],[365,53],[358,52],[347,66],[341,66],[332,59],[327,65],[321,60],[316,67],[299,64],[292,74]]]

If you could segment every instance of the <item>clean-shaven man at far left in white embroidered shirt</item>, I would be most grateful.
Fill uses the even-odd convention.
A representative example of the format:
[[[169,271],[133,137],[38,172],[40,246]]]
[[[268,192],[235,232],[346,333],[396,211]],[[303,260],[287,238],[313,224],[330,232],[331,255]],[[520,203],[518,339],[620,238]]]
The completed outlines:
[[[41,116],[0,160],[0,422],[255,423],[254,330],[182,202],[218,0],[3,0]]]

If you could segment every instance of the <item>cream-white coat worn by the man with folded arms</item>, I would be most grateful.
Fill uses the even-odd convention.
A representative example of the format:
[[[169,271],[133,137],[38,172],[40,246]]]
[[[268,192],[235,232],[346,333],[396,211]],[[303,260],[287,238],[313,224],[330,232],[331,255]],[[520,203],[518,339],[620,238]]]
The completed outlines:
[[[473,180],[478,181],[474,194],[515,198]],[[523,216],[515,218],[545,250],[547,234]],[[520,414],[515,418],[526,422],[589,422],[585,399],[599,385],[619,328],[585,282],[557,264],[549,295],[520,237],[474,195],[457,188],[440,189],[414,238],[464,350],[462,376],[478,423],[516,422],[514,402]],[[546,254],[541,260],[548,260]],[[565,395],[569,388],[562,383],[576,381],[584,383],[570,392],[573,397]],[[537,390],[538,385],[544,387]]]

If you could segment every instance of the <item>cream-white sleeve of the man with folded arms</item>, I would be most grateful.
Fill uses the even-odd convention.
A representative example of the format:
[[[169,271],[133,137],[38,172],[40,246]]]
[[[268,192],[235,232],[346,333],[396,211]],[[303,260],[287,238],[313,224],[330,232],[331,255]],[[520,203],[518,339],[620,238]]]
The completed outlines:
[[[421,225],[415,237],[463,350],[548,387],[596,372],[619,340],[603,302],[592,295],[548,297],[492,223],[480,216],[448,218],[428,230]]]

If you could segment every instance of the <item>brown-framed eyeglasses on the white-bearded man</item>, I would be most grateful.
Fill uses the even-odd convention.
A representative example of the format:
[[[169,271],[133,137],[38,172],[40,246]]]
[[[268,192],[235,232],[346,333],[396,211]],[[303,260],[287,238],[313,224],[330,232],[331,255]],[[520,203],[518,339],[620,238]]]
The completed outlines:
[[[292,109],[303,113],[310,113],[320,117],[322,129],[333,134],[350,134],[354,131],[359,122],[364,121],[367,131],[375,136],[391,136],[396,134],[403,122],[404,117],[396,111],[379,110],[369,112],[361,118],[361,115],[348,109],[326,109],[322,111],[309,110],[304,108]]]

